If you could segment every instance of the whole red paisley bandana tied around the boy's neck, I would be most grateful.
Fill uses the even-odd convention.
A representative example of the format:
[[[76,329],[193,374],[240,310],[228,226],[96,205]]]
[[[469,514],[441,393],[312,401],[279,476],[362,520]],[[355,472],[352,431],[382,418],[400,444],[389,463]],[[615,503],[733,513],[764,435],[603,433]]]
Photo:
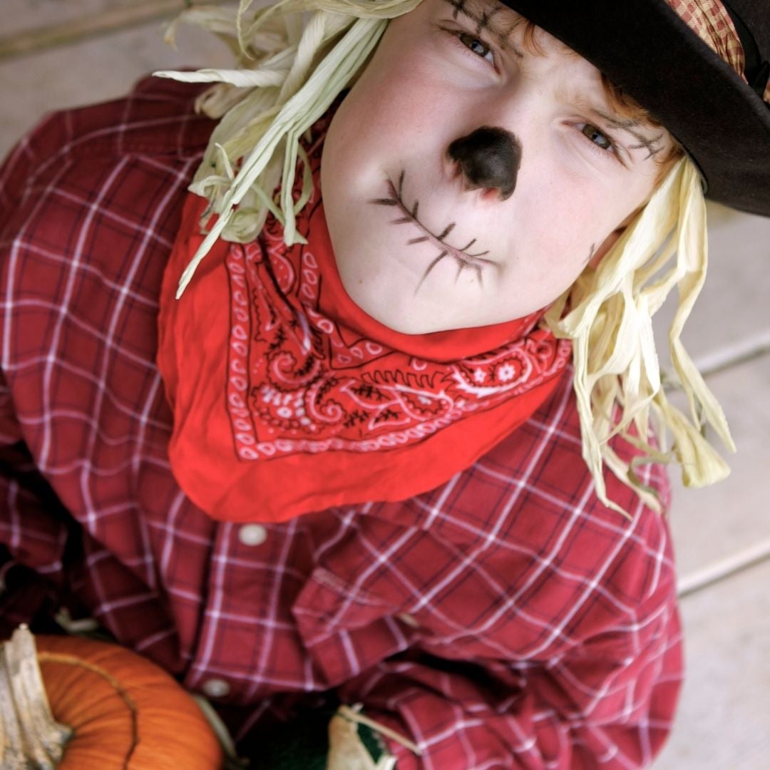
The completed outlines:
[[[287,247],[219,240],[181,300],[206,201],[186,200],[163,280],[158,365],[174,412],[172,470],[216,519],[285,521],[444,483],[527,420],[571,346],[510,323],[408,335],[356,306],[317,189],[328,117],[307,148],[316,189]]]

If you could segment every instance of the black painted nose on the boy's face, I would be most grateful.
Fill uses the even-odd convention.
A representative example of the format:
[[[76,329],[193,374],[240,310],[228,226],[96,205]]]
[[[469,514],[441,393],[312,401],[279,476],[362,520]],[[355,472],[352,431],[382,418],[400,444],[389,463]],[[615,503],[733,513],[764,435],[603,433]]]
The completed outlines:
[[[521,166],[521,142],[510,131],[481,126],[455,139],[447,156],[460,164],[473,189],[498,189],[500,200],[513,195]]]

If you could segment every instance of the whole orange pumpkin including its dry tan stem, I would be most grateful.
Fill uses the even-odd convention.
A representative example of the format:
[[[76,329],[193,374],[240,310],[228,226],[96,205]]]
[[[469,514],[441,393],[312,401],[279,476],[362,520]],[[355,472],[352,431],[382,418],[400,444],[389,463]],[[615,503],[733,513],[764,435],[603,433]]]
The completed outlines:
[[[119,644],[35,637],[22,624],[0,644],[6,691],[0,768],[223,770],[223,740],[197,698]]]

